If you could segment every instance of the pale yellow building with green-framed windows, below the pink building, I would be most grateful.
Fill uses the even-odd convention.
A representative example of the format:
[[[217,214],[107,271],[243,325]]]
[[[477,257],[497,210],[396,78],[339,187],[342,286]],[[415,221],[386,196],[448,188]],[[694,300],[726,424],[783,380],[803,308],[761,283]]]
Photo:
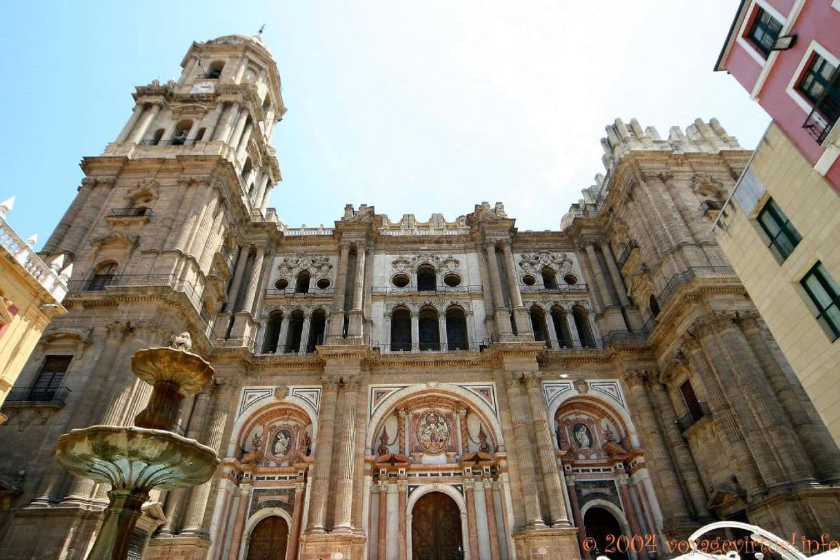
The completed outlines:
[[[773,123],[714,231],[840,442],[840,197]]]

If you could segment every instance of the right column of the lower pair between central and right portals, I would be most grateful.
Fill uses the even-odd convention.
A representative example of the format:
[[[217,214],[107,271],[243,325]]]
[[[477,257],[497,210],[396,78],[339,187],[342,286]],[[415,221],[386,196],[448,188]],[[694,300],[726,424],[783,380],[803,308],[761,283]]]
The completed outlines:
[[[563,487],[560,485],[557,457],[554,455],[554,438],[551,437],[549,415],[543,400],[542,374],[538,372],[525,374],[525,386],[528,390],[528,401],[531,406],[532,431],[537,442],[539,467],[543,474],[543,488],[549,500],[551,526],[568,527],[569,516],[566,513]]]

